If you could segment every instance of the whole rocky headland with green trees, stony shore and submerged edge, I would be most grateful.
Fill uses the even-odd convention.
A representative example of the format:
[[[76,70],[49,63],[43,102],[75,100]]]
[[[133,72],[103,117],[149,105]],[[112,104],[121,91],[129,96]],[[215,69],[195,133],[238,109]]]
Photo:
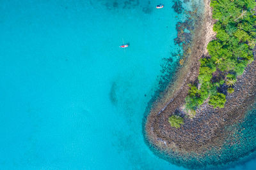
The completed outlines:
[[[190,169],[232,164],[256,148],[243,126],[256,99],[255,1],[204,3],[188,58],[150,103],[144,131],[154,153]]]

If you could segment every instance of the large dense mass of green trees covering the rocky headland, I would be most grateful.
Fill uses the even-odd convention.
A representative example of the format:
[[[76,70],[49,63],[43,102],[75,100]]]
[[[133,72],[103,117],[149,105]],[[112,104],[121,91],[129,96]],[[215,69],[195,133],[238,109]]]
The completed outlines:
[[[207,50],[210,57],[200,59],[198,85],[189,84],[186,110],[195,113],[196,108],[209,99],[214,108],[223,108],[226,89],[234,92],[236,76],[253,61],[256,45],[256,16],[254,0],[212,0],[212,17],[217,20],[213,30],[217,32]],[[222,89],[222,90],[220,90]]]

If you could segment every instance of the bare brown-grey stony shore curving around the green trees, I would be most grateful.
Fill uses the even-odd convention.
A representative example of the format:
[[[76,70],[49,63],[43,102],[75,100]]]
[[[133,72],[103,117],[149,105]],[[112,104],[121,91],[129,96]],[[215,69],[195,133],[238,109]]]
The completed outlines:
[[[196,117],[184,118],[180,129],[171,127],[168,117],[173,114],[184,115],[182,106],[188,95],[188,83],[196,81],[200,67],[199,59],[208,56],[207,44],[214,39],[212,31],[214,20],[211,17],[211,0],[205,0],[202,24],[195,29],[191,53],[177,75],[175,83],[168,88],[161,99],[152,104],[145,122],[145,138],[148,144],[164,159],[191,169],[228,164],[252,152],[252,148],[227,154],[237,141],[234,137],[235,124],[243,122],[247,111],[256,98],[256,62],[253,61],[241,76],[237,77],[235,92],[227,95],[223,109],[214,109],[207,103],[196,110]],[[232,137],[233,136],[233,137]],[[241,144],[242,145],[242,144]],[[256,148],[256,147],[255,147]]]

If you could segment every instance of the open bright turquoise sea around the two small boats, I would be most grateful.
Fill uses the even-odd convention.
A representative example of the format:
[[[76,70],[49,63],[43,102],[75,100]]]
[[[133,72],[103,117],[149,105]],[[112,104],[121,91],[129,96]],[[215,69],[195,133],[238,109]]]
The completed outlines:
[[[177,50],[179,17],[161,3],[1,1],[0,169],[183,169],[141,130]]]

